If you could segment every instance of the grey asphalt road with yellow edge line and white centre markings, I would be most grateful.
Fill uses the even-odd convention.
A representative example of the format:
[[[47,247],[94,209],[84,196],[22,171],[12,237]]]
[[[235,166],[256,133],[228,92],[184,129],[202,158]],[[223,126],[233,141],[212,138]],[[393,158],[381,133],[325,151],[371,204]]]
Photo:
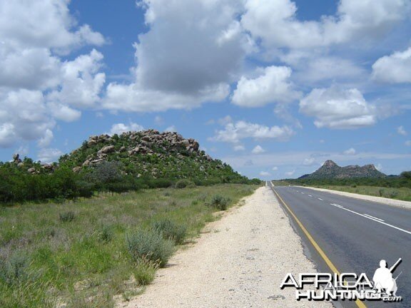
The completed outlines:
[[[380,260],[391,267],[401,257],[393,277],[402,272],[397,278],[397,296],[402,296],[402,302],[364,303],[367,307],[411,307],[411,210],[308,188],[274,189],[340,272],[365,272],[372,279]],[[318,270],[331,272],[308,238],[300,234]],[[347,301],[339,301],[340,305],[356,307]]]

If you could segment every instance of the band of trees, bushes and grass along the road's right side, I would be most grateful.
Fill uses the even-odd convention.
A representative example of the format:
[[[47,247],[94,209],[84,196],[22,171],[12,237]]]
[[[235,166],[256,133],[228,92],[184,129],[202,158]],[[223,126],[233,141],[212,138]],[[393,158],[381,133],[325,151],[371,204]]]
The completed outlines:
[[[301,185],[347,193],[411,201],[411,171],[386,178],[296,179],[274,181],[275,185]]]

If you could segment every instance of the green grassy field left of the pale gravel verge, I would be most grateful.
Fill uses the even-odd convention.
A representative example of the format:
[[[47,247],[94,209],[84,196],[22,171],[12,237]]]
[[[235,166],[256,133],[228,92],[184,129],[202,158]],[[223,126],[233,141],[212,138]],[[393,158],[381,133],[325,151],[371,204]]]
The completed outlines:
[[[170,221],[186,230],[184,238],[196,237],[205,222],[215,219],[217,209],[208,205],[214,195],[233,205],[255,188],[233,184],[167,188],[0,207],[0,307],[47,308],[56,302],[68,307],[113,307],[114,295],[128,298],[140,292],[160,266],[146,255],[133,255],[126,235],[153,231],[153,226],[161,225],[156,222]],[[178,243],[183,242],[181,236]]]

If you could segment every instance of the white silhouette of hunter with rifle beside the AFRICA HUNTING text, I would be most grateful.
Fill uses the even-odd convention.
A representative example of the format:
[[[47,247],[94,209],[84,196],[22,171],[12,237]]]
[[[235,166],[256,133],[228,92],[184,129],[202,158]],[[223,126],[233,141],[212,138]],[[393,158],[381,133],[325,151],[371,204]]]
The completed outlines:
[[[395,268],[402,262],[402,259],[398,259],[395,262],[395,265],[392,265],[390,269],[387,269],[387,262],[385,260],[380,261],[380,268],[375,270],[375,274],[372,277],[372,281],[374,282],[374,288],[377,289],[379,293],[382,293],[382,289],[385,290],[385,294],[388,296],[396,296],[397,295],[397,278],[400,276],[398,274],[397,277],[392,278],[392,272],[394,272]]]

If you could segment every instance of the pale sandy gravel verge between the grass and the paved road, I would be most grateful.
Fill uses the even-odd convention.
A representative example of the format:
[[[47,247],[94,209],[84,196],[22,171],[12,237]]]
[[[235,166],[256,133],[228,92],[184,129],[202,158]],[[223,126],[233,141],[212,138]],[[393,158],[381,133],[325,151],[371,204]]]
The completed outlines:
[[[258,188],[244,200],[177,252],[146,292],[118,307],[312,307],[294,299],[295,289],[280,289],[286,273],[315,267],[273,192]]]

